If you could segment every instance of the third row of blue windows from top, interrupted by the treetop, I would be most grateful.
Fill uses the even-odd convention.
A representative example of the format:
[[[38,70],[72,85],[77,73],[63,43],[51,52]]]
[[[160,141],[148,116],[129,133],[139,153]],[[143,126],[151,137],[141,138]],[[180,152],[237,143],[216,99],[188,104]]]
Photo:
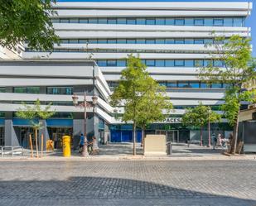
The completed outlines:
[[[126,60],[96,60],[99,66],[127,66]],[[213,65],[215,67],[223,67],[224,62],[221,60],[142,60],[147,66],[157,67],[202,67]]]

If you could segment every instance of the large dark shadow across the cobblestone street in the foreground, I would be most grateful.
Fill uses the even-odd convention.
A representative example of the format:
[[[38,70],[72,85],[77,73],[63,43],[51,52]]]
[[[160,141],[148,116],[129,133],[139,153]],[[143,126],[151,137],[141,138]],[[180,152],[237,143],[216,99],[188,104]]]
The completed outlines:
[[[0,188],[0,205],[256,205],[255,199],[239,199],[166,184],[106,177],[1,180]]]

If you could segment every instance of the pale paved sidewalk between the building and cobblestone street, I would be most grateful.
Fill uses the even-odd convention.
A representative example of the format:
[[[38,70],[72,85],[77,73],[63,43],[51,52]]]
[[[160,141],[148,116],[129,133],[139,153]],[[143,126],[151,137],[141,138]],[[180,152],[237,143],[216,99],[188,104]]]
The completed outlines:
[[[83,157],[77,151],[72,151],[72,156],[63,157],[62,151],[45,152],[43,158],[31,158],[30,156],[2,157],[0,161],[39,160],[39,161],[60,161],[60,160],[256,160],[256,154],[241,156],[224,156],[222,149],[208,148],[197,145],[173,145],[171,156],[143,156],[142,147],[138,145],[137,156],[133,156],[132,144],[110,144],[100,146],[99,155]],[[27,154],[28,151],[27,151]],[[34,155],[36,156],[36,154]]]

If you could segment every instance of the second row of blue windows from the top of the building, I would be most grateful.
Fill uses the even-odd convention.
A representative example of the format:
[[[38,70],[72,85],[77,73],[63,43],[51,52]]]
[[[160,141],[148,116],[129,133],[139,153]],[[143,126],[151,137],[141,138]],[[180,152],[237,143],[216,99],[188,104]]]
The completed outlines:
[[[62,39],[61,44],[223,44],[225,41],[214,41],[213,39],[189,39],[189,38],[161,38],[161,39]]]

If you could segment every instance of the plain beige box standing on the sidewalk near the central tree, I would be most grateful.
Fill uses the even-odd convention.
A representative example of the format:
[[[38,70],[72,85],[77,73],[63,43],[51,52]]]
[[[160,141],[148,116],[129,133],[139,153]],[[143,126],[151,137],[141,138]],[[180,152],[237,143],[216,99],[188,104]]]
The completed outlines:
[[[166,138],[165,135],[147,135],[144,143],[144,156],[166,156]]]

